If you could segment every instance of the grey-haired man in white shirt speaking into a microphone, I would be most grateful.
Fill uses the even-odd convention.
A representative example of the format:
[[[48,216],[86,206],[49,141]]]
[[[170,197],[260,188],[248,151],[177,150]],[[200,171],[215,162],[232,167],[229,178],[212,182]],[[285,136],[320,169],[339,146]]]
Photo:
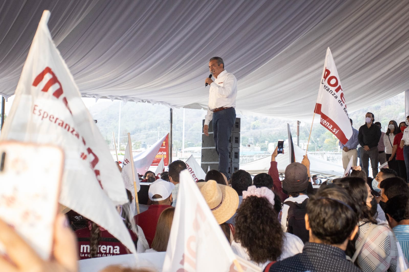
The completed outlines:
[[[209,123],[213,120],[213,138],[216,145],[216,152],[219,155],[219,171],[230,178],[229,168],[229,137],[234,122],[236,122],[236,77],[227,73],[225,64],[221,57],[212,57],[209,61],[211,77],[205,80],[205,86],[209,84],[209,104],[203,133],[209,136]]]

